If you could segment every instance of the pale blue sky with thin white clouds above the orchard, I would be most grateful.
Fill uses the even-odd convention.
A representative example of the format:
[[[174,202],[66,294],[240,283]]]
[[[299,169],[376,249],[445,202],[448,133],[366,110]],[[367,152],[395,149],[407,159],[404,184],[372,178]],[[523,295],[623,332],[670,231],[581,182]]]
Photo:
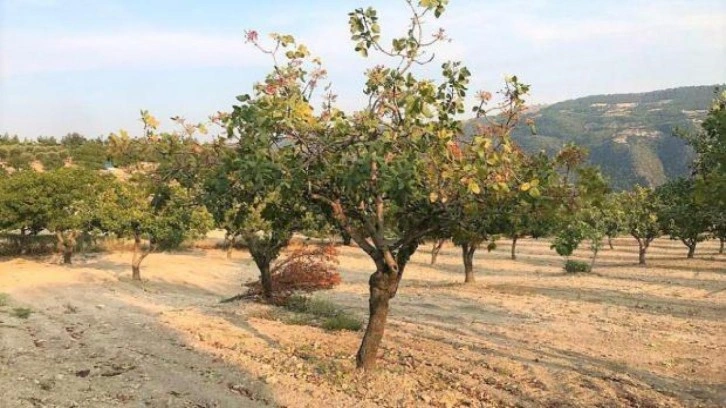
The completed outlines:
[[[248,29],[305,43],[356,109],[365,69],[386,62],[353,51],[347,13],[367,6],[384,39],[402,34],[403,0],[0,0],[0,134],[135,134],[140,109],[230,110],[271,68]],[[472,91],[515,74],[536,104],[726,82],[726,0],[450,0],[426,24],[451,42],[422,75],[460,60]]]

